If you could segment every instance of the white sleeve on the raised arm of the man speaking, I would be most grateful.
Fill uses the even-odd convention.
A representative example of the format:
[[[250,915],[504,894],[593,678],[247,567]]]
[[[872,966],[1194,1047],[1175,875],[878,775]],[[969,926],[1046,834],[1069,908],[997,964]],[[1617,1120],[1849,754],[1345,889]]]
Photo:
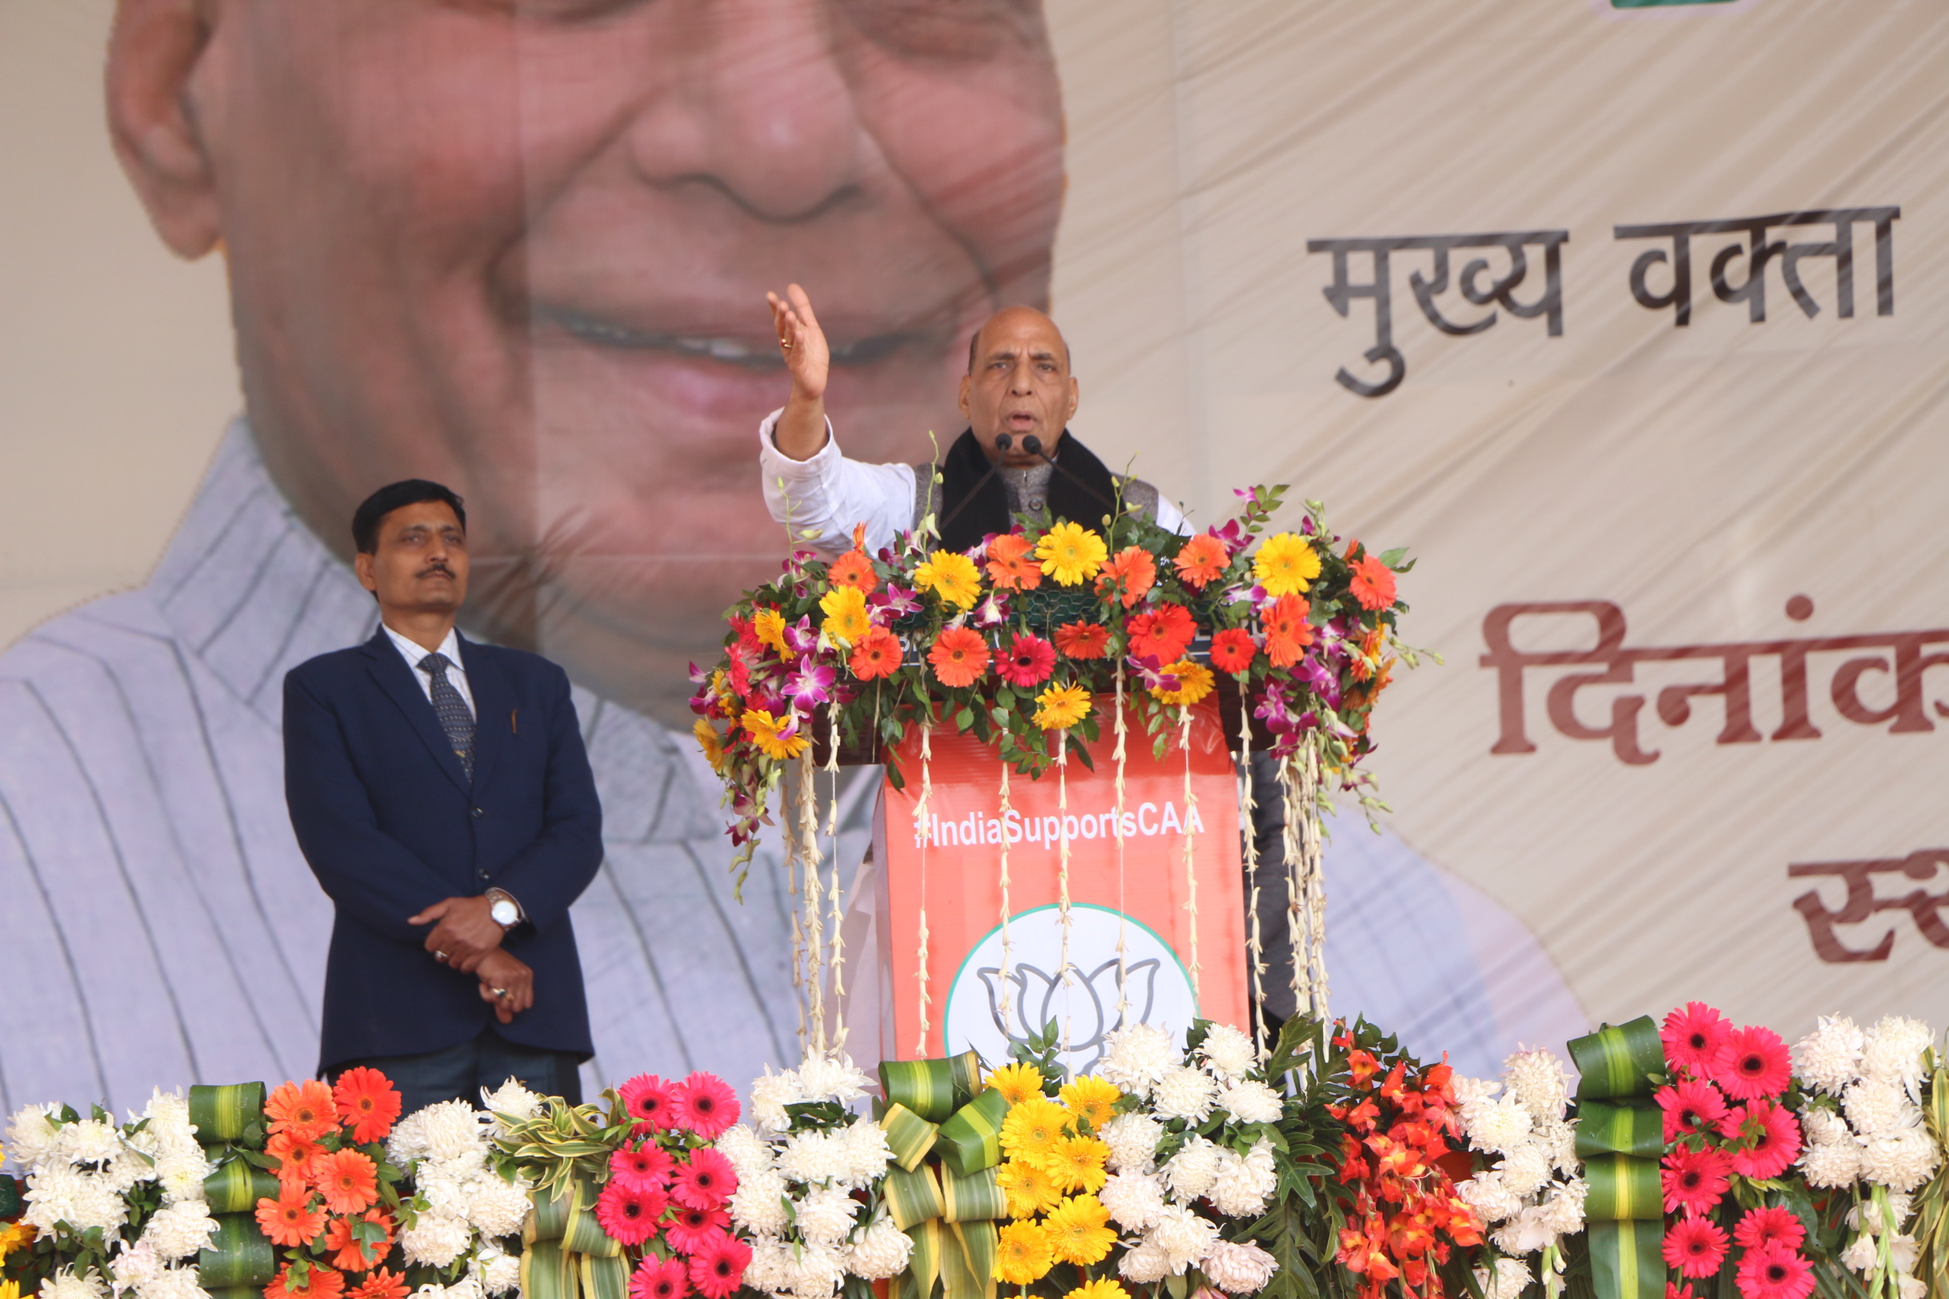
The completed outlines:
[[[793,545],[838,555],[852,549],[854,524],[865,524],[865,547],[877,551],[914,526],[912,465],[846,460],[830,419],[819,454],[791,460],[772,442],[780,415],[782,409],[772,411],[758,425],[758,467],[764,473],[764,504],[774,520],[789,524]],[[807,538],[807,532],[817,536]]]

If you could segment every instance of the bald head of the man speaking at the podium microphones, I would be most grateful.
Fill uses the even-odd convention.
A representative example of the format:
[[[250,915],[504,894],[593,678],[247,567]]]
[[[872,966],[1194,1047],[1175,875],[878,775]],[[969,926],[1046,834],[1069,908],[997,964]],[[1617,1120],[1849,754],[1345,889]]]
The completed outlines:
[[[1035,308],[1012,306],[996,312],[969,341],[969,372],[961,380],[961,413],[988,460],[1012,465],[1037,464],[1021,448],[1023,438],[1041,438],[1043,450],[1056,450],[1070,417],[1076,415],[1076,378],[1070,374],[1070,345]],[[1010,434],[1010,450],[998,446]]]

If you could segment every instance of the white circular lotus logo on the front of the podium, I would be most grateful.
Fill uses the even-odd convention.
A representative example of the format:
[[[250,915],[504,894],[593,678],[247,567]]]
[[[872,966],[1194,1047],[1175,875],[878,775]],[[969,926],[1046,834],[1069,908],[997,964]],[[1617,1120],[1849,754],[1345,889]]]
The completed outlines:
[[[1103,1058],[1103,1038],[1127,1021],[1164,1028],[1183,1044],[1199,1013],[1191,976],[1146,925],[1078,902],[1070,906],[1066,956],[1064,962],[1060,908],[1010,917],[1006,976],[1002,927],[990,929],[947,987],[941,1015],[947,1054],[974,1048],[998,1065],[1010,1046],[1043,1032],[1051,1021],[1072,1075],[1088,1073]]]

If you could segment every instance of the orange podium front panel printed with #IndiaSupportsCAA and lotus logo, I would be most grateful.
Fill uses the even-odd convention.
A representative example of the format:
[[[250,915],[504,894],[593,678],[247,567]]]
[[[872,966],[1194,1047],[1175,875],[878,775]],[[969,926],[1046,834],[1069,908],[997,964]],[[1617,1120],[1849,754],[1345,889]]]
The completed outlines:
[[[897,1058],[1004,1061],[1054,1021],[1064,1063],[1088,1069],[1125,1019],[1179,1040],[1195,1017],[1247,1026],[1238,777],[1216,699],[1191,709],[1189,746],[1167,728],[1162,760],[1127,713],[1121,804],[1115,701],[1095,705],[1093,769],[1070,754],[1039,779],[1012,771],[1006,808],[992,746],[936,732],[922,779],[920,734],[900,744],[904,787],[887,783],[875,835]]]

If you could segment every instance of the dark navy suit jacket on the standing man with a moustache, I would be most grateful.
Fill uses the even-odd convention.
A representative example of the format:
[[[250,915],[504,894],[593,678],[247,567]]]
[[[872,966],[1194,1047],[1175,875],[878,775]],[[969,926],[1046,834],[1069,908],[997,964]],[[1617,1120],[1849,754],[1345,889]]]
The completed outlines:
[[[522,1046],[594,1052],[569,904],[602,865],[602,806],[569,678],[466,639],[460,660],[478,717],[472,783],[384,627],[285,676],[285,800],[337,906],[320,1071],[456,1046],[489,1024]],[[528,913],[503,946],[534,968],[534,1005],[505,1026],[479,980],[425,950],[431,925],[405,923],[489,886]]]

